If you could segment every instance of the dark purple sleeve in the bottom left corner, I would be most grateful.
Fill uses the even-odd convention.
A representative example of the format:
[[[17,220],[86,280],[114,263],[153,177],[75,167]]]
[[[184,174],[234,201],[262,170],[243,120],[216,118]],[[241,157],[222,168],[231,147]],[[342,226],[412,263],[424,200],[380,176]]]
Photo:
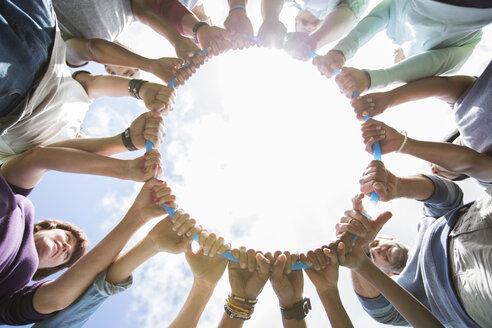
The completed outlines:
[[[33,305],[34,293],[39,286],[46,282],[37,282],[4,296],[0,300],[0,324],[25,325],[52,316],[52,313],[42,314],[37,312]]]

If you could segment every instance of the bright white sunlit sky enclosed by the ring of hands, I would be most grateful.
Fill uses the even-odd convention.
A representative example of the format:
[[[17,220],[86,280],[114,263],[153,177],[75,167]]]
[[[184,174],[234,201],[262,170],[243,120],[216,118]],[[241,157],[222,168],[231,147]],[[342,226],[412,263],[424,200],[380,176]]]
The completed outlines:
[[[330,239],[370,158],[349,100],[276,50],[229,52],[197,79],[210,90],[174,136],[180,205],[233,246],[305,251]]]

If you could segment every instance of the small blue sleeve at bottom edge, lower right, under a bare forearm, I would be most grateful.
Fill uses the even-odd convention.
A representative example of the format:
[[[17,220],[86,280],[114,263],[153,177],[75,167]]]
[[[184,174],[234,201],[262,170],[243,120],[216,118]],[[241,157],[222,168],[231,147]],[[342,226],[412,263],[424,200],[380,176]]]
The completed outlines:
[[[357,297],[367,314],[377,322],[393,326],[410,325],[383,295],[376,298],[364,298],[360,295]]]

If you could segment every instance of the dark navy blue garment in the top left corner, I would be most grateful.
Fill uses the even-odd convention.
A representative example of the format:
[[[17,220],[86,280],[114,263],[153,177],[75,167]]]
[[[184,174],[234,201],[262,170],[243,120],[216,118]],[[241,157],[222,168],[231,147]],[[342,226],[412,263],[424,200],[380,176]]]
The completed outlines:
[[[0,1],[0,116],[21,102],[44,74],[55,27],[50,0]]]

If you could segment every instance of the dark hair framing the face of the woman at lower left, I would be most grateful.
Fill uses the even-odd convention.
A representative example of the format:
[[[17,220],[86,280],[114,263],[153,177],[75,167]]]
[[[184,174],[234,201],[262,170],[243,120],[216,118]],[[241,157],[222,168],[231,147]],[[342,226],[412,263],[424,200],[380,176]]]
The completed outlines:
[[[41,230],[51,229],[61,229],[71,232],[74,238],[77,240],[77,243],[75,244],[72,255],[67,262],[53,268],[38,269],[34,273],[32,280],[41,280],[49,275],[52,275],[55,272],[70,267],[72,264],[75,263],[75,261],[77,261],[82,255],[84,255],[87,248],[89,248],[89,241],[87,240],[84,231],[76,225],[71,224],[70,222],[58,221],[55,219],[45,219],[34,224],[34,233]]]

